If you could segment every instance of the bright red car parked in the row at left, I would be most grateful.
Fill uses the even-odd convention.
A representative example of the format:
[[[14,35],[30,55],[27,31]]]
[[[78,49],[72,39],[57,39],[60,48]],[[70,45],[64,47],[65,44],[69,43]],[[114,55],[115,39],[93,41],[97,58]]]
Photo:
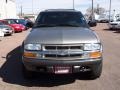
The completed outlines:
[[[11,26],[14,29],[14,32],[22,32],[23,30],[25,30],[25,26],[23,26],[22,24],[16,24],[13,20],[0,20],[0,22]]]

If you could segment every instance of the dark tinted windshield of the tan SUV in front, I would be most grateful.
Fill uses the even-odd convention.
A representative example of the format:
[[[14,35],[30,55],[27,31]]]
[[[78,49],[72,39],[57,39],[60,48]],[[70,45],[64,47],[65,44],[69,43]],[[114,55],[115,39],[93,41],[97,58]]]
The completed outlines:
[[[87,23],[80,12],[42,12],[34,27],[51,26],[87,27]]]

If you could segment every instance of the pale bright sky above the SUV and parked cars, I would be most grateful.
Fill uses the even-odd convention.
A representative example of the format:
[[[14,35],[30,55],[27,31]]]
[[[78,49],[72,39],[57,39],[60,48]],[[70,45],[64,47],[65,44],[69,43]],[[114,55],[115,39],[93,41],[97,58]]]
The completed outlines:
[[[74,0],[75,9],[86,13],[86,9],[91,7],[92,0]],[[100,7],[109,10],[109,1],[110,0],[94,0],[94,7],[97,7],[97,4]],[[112,1],[112,12],[113,10],[116,13],[120,13],[120,0],[111,0]],[[33,3],[32,3],[33,2]],[[20,13],[20,6],[23,7],[23,13],[39,13],[45,9],[72,9],[73,0],[16,0],[17,13]],[[33,9],[32,9],[33,7]]]

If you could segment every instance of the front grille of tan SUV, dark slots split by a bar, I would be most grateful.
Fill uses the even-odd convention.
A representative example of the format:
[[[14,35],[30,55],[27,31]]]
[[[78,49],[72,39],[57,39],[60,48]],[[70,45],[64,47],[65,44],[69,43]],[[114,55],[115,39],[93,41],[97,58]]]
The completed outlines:
[[[83,45],[43,45],[44,58],[81,58],[83,53]]]

